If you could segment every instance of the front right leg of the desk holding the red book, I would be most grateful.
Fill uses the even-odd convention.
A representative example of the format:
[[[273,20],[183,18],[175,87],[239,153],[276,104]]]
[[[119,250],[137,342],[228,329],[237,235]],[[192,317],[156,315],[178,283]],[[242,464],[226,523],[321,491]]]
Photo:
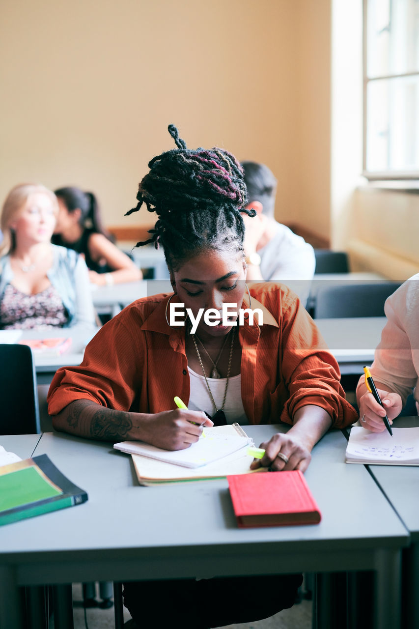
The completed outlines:
[[[377,557],[376,569],[374,629],[399,629],[401,551],[381,550]]]

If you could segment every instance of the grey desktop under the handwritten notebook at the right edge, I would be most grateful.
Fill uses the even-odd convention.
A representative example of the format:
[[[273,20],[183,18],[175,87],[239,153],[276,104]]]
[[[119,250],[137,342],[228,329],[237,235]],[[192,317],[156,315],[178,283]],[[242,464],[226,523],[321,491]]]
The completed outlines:
[[[394,428],[419,426],[419,417],[399,417]],[[393,504],[413,542],[419,542],[419,465],[369,465],[372,476],[379,482]]]

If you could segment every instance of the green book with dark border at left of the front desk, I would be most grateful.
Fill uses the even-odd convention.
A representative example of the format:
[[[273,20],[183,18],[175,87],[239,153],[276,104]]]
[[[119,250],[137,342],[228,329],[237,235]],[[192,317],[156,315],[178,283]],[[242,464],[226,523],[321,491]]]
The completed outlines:
[[[86,500],[46,454],[0,467],[0,526]]]

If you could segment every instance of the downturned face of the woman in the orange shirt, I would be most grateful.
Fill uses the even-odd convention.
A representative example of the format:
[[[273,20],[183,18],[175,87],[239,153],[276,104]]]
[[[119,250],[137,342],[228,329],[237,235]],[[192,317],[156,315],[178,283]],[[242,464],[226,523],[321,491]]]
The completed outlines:
[[[176,282],[175,290],[185,308],[190,308],[194,317],[200,308],[204,311],[215,308],[222,312],[223,304],[237,304],[232,308],[237,315],[230,317],[235,321],[238,309],[242,307],[245,292],[245,262],[241,253],[206,250],[187,260],[181,268],[171,274]],[[196,333],[221,337],[226,335],[232,326],[207,325],[201,316]]]

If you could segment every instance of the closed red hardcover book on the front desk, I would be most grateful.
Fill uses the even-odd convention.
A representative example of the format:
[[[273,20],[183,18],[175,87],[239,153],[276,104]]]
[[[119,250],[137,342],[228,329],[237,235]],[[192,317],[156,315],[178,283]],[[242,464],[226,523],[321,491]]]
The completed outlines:
[[[228,476],[237,523],[249,526],[318,524],[320,510],[302,472]]]

